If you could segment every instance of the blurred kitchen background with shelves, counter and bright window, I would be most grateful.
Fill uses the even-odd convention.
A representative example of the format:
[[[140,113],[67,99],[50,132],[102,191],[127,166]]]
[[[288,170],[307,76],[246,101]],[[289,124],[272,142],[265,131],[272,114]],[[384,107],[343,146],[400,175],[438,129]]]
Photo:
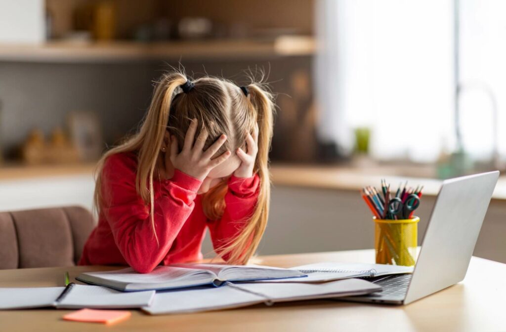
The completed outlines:
[[[501,0],[0,0],[0,210],[92,208],[170,66],[277,93],[261,254],[373,246],[360,188],[506,170]],[[475,255],[506,262],[500,178]],[[420,236],[421,239],[421,236]],[[205,245],[210,250],[208,240]]]

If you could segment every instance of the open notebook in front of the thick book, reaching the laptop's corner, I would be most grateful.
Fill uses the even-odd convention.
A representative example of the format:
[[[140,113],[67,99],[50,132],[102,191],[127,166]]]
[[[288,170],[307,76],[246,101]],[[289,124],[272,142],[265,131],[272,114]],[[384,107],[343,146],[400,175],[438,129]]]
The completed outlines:
[[[186,291],[157,292],[151,306],[142,310],[152,315],[191,313],[246,307],[259,303],[301,301],[364,295],[381,287],[361,279],[326,283],[231,283],[222,287],[197,287]]]

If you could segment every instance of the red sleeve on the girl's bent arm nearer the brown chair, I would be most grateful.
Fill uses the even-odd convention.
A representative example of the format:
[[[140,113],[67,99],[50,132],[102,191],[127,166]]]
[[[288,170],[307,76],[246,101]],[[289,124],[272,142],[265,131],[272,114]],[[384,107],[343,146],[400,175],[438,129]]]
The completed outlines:
[[[193,200],[201,181],[178,170],[174,177],[160,183],[154,197],[154,236],[150,206],[135,188],[137,163],[113,155],[102,173],[102,212],[119,251],[136,271],[152,271],[167,255],[181,227],[194,208]]]

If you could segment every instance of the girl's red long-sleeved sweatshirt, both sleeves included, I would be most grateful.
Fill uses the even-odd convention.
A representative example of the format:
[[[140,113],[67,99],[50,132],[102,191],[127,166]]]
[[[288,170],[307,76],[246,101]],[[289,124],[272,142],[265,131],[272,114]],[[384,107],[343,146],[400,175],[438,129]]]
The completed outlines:
[[[208,220],[201,195],[197,194],[202,182],[176,170],[172,179],[153,183],[156,243],[150,207],[135,189],[136,172],[134,153],[107,158],[102,171],[103,204],[98,225],[85,244],[79,265],[128,264],[147,273],[160,264],[200,260],[205,228],[209,227],[216,250],[241,231],[258,198],[258,175],[232,175],[223,217]]]

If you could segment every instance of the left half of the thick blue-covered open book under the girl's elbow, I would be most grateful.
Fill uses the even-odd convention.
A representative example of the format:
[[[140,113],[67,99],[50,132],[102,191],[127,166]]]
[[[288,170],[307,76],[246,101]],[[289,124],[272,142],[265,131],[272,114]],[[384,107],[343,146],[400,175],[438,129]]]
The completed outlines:
[[[137,273],[132,268],[126,268],[116,271],[81,273],[77,279],[124,291],[142,291],[207,284],[213,282],[215,274],[177,266],[158,266],[150,273]]]

